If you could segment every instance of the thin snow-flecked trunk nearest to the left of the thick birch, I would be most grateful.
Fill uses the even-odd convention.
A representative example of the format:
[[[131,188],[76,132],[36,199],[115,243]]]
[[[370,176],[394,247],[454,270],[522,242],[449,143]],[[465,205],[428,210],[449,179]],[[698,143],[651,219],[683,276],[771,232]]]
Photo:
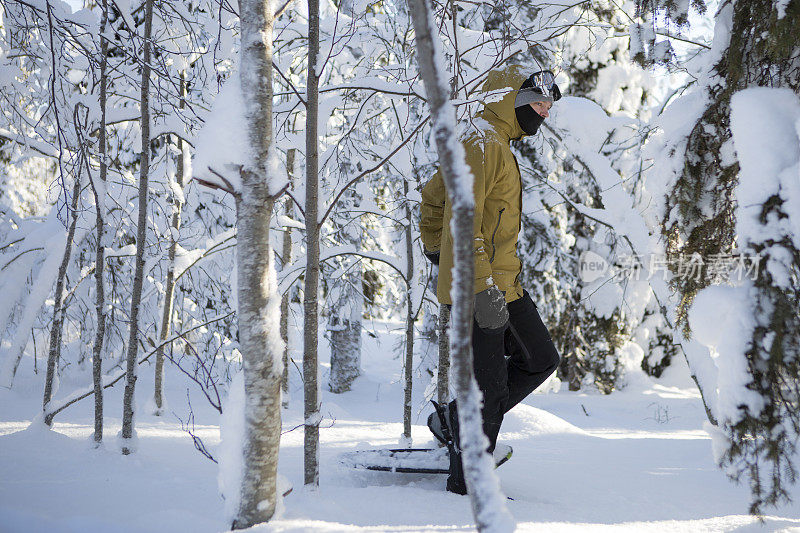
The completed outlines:
[[[181,72],[181,102],[180,108],[183,109],[186,104],[186,79],[185,74]],[[184,146],[183,139],[178,137],[178,168],[175,175],[175,180],[178,183],[178,188],[183,190],[184,172],[185,172],[185,159],[188,157],[188,151]],[[181,209],[183,208],[183,199],[179,195],[173,195],[172,200],[172,225],[170,231],[170,245],[169,245],[169,266],[167,267],[167,280],[164,287],[164,308],[161,311],[161,331],[159,340],[164,341],[169,338],[170,331],[172,330],[172,300],[175,295],[175,254],[178,249],[178,232],[181,229]],[[153,392],[153,401],[156,405],[156,416],[160,416],[164,410],[164,346],[161,346],[156,352],[156,365],[155,365],[155,390]]]

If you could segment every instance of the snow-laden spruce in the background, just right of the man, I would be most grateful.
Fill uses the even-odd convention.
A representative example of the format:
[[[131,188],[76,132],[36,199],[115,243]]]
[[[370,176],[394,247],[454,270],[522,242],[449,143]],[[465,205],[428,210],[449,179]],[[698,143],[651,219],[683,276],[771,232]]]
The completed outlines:
[[[597,152],[618,173],[616,186],[635,202],[635,187],[641,179],[642,169],[640,147],[647,132],[642,119],[649,118],[655,104],[656,87],[653,76],[631,62],[628,41],[620,38],[620,34],[627,30],[633,12],[633,2],[590,3],[582,15],[585,23],[576,24],[564,33],[555,57],[559,58],[569,82],[565,92],[597,103],[613,118],[608,120],[600,115],[591,121],[591,129],[603,136]],[[609,210],[617,207],[613,203],[604,205],[608,202],[603,199],[604,186],[595,175],[596,169],[591,168],[592,161],[570,146],[570,137],[575,133],[570,129],[574,125],[559,127],[558,115],[556,110],[553,127],[557,132],[550,132],[550,125],[545,123],[547,142],[541,146],[543,157],[540,164],[545,167],[550,180],[561,182],[561,193],[566,199],[562,194],[554,194],[550,187],[542,188],[541,183],[538,188],[542,192],[542,205],[547,206],[553,221],[550,232],[560,237],[548,240],[555,245],[550,250],[558,250],[553,255],[561,270],[557,276],[536,276],[534,285],[556,282],[561,285],[560,289],[552,287],[550,290],[565,291],[566,298],[563,299],[544,297],[542,302],[546,307],[552,306],[550,302],[554,301],[571,301],[571,305],[564,309],[566,312],[557,315],[560,318],[553,331],[564,346],[562,377],[571,389],[583,383],[611,392],[624,385],[622,359],[630,353],[630,341],[643,336],[640,342],[644,344],[641,347],[645,354],[653,353],[654,339],[658,342],[659,338],[664,338],[658,336],[656,326],[663,324],[656,322],[661,318],[660,309],[653,305],[652,295],[643,283],[619,271],[617,273],[622,275],[603,276],[598,280],[577,275],[585,254],[596,254],[594,257],[599,256],[606,264],[619,267],[623,263],[630,264],[634,256],[645,254],[647,250],[631,246],[626,235],[630,228],[604,224],[599,218],[570,205],[577,203]],[[532,177],[536,183],[535,174]],[[642,210],[646,206],[637,207]],[[560,235],[562,232],[574,240],[565,239]],[[568,247],[565,248],[564,244]],[[540,257],[541,251],[540,247]],[[563,268],[566,266],[565,254],[571,258],[566,269]],[[642,324],[645,306],[649,309],[648,316],[653,317],[646,326]],[[671,335],[669,337],[671,342]],[[639,352],[635,347],[633,349]],[[662,348],[659,353],[669,355],[671,352]]]

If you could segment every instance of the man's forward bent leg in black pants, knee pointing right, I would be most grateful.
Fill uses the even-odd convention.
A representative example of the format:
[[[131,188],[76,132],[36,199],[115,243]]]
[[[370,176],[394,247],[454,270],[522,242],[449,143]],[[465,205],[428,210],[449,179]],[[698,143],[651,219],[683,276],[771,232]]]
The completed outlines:
[[[508,304],[505,332],[508,360],[508,399],[503,413],[536,390],[558,368],[561,358],[528,291]]]

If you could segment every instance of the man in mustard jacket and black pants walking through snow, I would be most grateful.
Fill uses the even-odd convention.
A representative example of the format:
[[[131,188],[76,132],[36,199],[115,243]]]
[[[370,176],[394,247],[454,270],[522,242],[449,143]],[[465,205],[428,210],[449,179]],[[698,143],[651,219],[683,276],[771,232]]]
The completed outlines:
[[[494,451],[503,415],[552,374],[560,362],[536,305],[519,284],[517,237],[522,182],[510,141],[533,135],[561,98],[550,71],[525,77],[521,67],[489,73],[485,93],[502,94],[485,104],[478,131],[463,141],[475,178],[475,313],[472,350],[475,379],[483,393],[483,431]],[[482,119],[482,120],[480,120]],[[437,297],[450,305],[453,240],[451,206],[439,172],[422,190],[420,233],[425,255],[439,265]],[[443,230],[444,229],[444,230]],[[456,402],[436,405],[428,427],[450,451],[447,490],[466,494],[461,464]]]

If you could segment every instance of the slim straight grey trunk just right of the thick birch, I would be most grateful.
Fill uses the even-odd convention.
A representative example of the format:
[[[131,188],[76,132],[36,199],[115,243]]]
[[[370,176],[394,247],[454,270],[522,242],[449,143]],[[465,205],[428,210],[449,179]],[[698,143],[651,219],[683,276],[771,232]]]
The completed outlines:
[[[319,365],[317,292],[319,289],[319,0],[308,0],[308,82],[306,85],[306,273],[303,294],[304,483],[319,485]]]

